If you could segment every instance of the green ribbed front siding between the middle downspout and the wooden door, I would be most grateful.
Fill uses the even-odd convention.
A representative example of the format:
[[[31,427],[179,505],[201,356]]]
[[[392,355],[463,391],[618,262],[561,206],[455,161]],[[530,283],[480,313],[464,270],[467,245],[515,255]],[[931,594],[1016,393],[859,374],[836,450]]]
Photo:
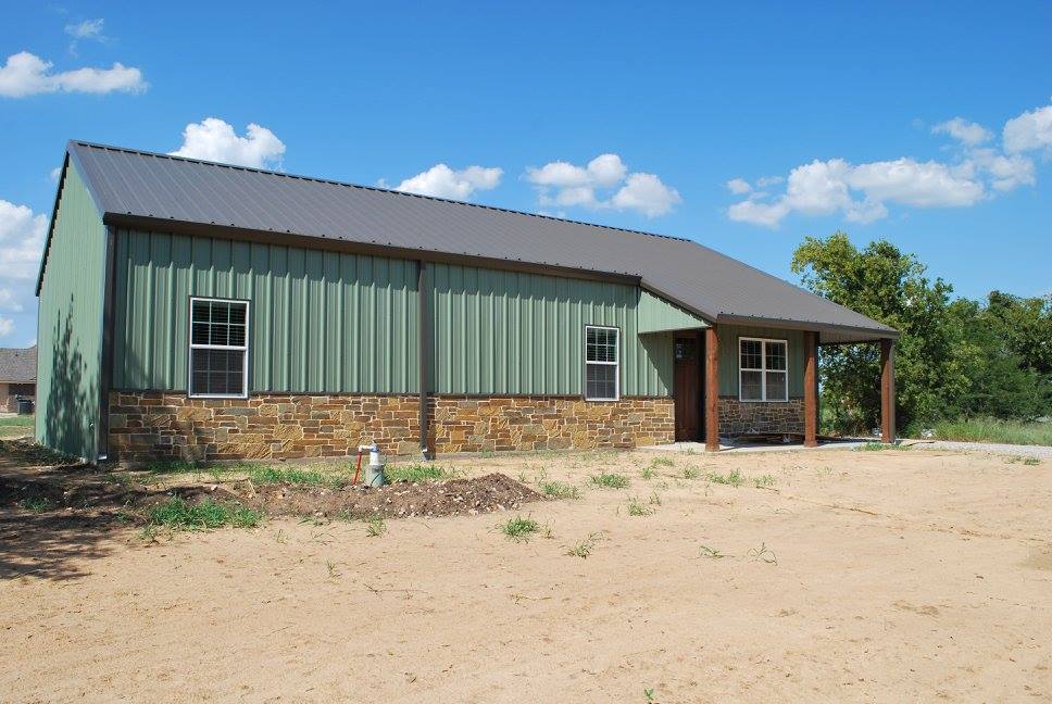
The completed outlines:
[[[436,264],[435,391],[579,394],[586,325],[622,330],[622,394],[667,395],[672,337],[639,336],[636,287]]]

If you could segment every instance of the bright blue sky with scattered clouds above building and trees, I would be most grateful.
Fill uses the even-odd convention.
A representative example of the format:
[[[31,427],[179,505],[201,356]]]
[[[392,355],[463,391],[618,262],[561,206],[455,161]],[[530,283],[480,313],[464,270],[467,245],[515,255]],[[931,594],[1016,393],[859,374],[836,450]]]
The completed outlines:
[[[962,296],[1052,290],[1052,4],[9,4],[0,345],[35,337],[70,138],[690,237],[790,280],[840,228]]]

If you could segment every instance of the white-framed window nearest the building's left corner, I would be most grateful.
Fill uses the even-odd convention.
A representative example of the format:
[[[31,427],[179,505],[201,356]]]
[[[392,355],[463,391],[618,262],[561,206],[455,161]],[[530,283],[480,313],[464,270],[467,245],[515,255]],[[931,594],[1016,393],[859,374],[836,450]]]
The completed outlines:
[[[248,341],[248,301],[191,298],[188,394],[247,398]]]

